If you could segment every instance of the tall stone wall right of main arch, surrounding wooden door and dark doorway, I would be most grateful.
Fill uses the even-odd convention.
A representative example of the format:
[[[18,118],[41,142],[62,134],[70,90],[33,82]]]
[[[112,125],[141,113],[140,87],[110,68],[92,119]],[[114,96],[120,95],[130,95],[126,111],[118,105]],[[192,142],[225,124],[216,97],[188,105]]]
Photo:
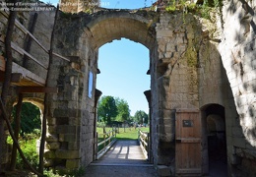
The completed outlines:
[[[153,156],[155,164],[174,168],[175,110],[198,108],[202,115],[206,106],[224,107],[227,158],[232,158],[233,140],[244,141],[237,121],[234,98],[230,89],[221,55],[222,30],[218,29],[221,17],[212,14],[214,21],[201,19],[192,14],[162,14],[157,25],[158,57],[153,61]],[[184,18],[184,19],[183,19]],[[175,23],[172,23],[175,22]],[[188,23],[186,23],[188,22]],[[156,53],[155,53],[156,55]],[[218,111],[217,111],[218,112]],[[202,116],[202,145],[207,144]],[[231,128],[234,125],[237,127]],[[231,133],[232,131],[235,131]],[[157,134],[156,134],[157,133]],[[252,148],[251,148],[252,149]],[[203,172],[208,173],[208,149],[202,148]],[[207,163],[207,167],[205,167]],[[229,164],[231,162],[229,161]],[[229,171],[231,167],[229,166]],[[233,172],[230,172],[230,174]]]

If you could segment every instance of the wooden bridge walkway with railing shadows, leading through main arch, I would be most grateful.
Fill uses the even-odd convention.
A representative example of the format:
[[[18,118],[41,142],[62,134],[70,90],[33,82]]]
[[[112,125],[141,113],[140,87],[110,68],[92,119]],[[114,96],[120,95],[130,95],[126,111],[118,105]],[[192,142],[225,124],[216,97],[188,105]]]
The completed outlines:
[[[86,169],[85,177],[156,177],[137,141],[117,141]]]

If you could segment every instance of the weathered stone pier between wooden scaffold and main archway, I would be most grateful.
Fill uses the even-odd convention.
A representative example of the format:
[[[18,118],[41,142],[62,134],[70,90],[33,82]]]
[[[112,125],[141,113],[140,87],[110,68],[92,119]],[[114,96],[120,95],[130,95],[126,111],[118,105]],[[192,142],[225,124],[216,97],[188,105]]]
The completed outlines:
[[[97,50],[80,20],[76,15],[60,14],[55,30],[54,51],[71,62],[55,58],[51,70],[50,84],[58,88],[49,105],[45,157],[51,167],[74,169],[87,166],[94,158]]]

